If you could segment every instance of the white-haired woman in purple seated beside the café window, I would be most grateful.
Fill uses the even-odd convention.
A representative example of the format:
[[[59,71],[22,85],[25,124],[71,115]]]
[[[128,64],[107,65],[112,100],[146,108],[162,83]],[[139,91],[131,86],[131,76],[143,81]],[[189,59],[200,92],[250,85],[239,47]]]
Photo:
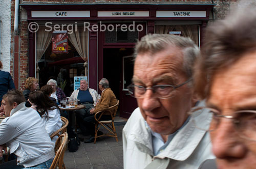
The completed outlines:
[[[62,89],[57,87],[57,81],[56,80],[50,79],[47,82],[47,85],[50,85],[52,87],[53,92],[52,92],[50,97],[55,98],[56,101],[57,101],[57,104],[59,104],[61,100],[67,98],[65,93],[62,91]]]

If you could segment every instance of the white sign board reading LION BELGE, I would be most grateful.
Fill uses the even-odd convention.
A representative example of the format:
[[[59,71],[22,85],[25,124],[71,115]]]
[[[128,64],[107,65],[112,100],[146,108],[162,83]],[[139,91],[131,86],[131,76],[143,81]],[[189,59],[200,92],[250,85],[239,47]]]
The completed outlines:
[[[98,11],[98,17],[148,17],[149,11]]]

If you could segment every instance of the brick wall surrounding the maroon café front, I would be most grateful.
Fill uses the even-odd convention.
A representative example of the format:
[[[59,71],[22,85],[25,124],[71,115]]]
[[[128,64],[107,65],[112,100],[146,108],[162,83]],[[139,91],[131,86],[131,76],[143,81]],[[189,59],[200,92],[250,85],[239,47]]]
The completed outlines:
[[[7,0],[2,0],[7,1]],[[218,4],[214,7],[213,12],[213,20],[215,19],[223,19],[225,15],[228,13],[230,6],[232,4],[236,4],[239,0],[213,0],[214,3],[218,2]],[[13,56],[13,24],[14,24],[14,4],[15,0],[11,0],[11,57]],[[158,3],[166,3],[166,4],[174,4],[174,3],[211,3],[211,0],[20,0],[20,4],[23,3],[47,3],[47,4],[67,4],[67,3],[76,3],[76,4],[91,4],[94,2],[102,2],[102,3],[113,3],[113,2],[121,2],[121,3],[131,3],[139,2],[143,4],[158,4]],[[20,9],[22,9],[20,7]],[[22,9],[23,11],[24,9]],[[28,77],[28,22],[24,19],[19,21],[19,37],[18,41],[20,43],[19,45],[19,78],[18,78],[18,84],[19,89],[24,90],[24,84],[25,80]],[[10,68],[11,72],[13,71],[13,65],[12,60],[10,61]],[[17,71],[17,70],[15,70]]]

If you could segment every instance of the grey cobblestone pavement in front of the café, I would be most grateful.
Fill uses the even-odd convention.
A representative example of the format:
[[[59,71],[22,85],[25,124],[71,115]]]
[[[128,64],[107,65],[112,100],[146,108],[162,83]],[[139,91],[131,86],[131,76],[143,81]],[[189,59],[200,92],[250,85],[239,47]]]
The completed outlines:
[[[115,126],[118,143],[114,137],[97,138],[96,144],[81,142],[79,149],[71,153],[66,150],[64,163],[66,169],[121,169],[123,168],[122,129]],[[103,133],[106,130],[100,129]],[[81,136],[88,139],[90,136]]]

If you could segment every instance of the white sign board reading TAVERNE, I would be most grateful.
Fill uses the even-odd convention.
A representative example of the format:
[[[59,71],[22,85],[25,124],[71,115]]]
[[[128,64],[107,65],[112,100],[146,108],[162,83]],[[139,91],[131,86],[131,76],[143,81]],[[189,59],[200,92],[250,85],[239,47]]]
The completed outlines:
[[[157,17],[206,17],[206,11],[157,11]]]

